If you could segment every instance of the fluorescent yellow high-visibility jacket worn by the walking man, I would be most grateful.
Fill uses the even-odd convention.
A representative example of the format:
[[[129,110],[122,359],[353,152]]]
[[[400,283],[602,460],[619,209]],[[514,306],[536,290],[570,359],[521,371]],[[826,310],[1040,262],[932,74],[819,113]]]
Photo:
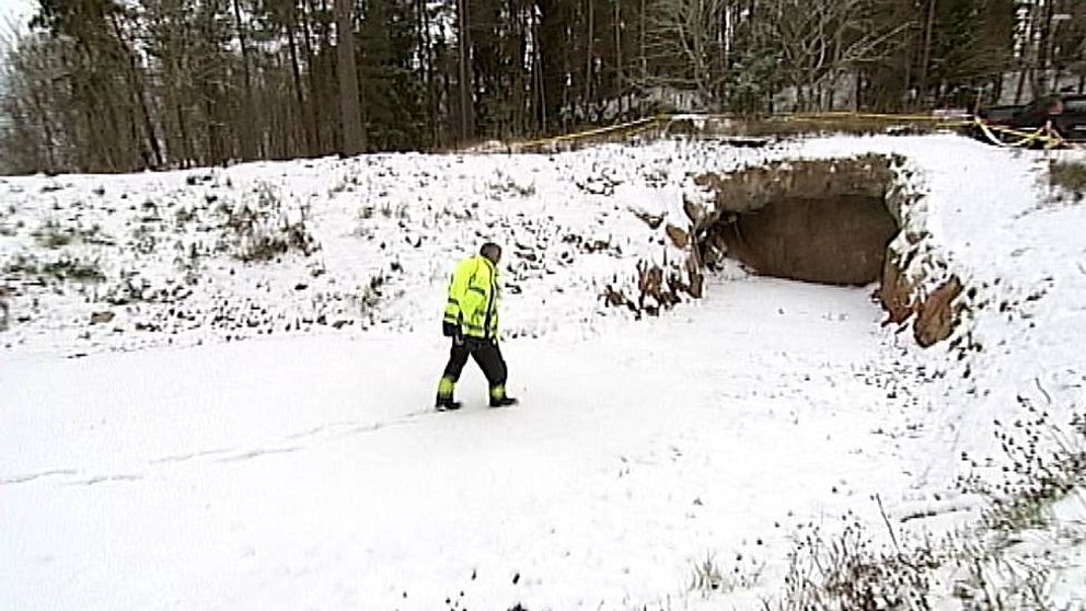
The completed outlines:
[[[444,323],[459,325],[469,337],[498,338],[498,270],[490,260],[475,255],[457,265]]]

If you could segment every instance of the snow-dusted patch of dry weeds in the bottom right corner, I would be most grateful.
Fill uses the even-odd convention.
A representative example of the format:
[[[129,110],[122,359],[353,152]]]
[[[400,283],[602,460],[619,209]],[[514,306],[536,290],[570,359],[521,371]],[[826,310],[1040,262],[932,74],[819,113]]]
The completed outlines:
[[[928,610],[946,596],[978,611],[1052,609],[1051,585],[1063,562],[1052,549],[1084,537],[1081,527],[1054,528],[1053,507],[1086,483],[1086,415],[1058,427],[1048,412],[1019,401],[1029,418],[996,423],[1006,479],[973,474],[959,482],[961,492],[984,502],[979,520],[941,538],[905,539],[887,519],[892,544],[878,543],[858,520],[832,533],[808,524],[772,609]]]

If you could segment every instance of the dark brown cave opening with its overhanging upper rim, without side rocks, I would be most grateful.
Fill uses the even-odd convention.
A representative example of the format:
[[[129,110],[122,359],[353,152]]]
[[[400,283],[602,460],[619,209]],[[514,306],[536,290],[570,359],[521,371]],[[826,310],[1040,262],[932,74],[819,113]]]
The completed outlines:
[[[702,218],[703,261],[727,256],[761,275],[809,283],[878,281],[900,230],[888,201],[891,163],[873,155],[703,177],[717,204]]]

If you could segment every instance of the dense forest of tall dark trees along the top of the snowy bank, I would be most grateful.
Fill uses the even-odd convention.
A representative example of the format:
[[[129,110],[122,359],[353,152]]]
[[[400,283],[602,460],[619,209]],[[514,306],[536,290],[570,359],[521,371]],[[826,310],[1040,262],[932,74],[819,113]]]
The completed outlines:
[[[1026,102],[1084,89],[1086,2],[38,0],[2,69],[0,170],[131,172]]]

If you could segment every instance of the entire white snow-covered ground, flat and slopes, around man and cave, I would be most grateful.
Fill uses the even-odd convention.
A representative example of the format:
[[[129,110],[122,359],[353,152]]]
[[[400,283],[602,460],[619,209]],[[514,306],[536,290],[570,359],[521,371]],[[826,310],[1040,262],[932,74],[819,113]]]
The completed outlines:
[[[603,308],[668,254],[633,211],[684,224],[695,173],[871,151],[972,289],[957,343],[738,269]],[[812,530],[962,528],[995,420],[1086,408],[1086,206],[1048,161],[935,136],[4,181],[0,609],[760,609]],[[447,276],[490,239],[522,404],[472,365],[435,413]],[[1056,510],[1025,539],[1074,608],[1084,511]]]

